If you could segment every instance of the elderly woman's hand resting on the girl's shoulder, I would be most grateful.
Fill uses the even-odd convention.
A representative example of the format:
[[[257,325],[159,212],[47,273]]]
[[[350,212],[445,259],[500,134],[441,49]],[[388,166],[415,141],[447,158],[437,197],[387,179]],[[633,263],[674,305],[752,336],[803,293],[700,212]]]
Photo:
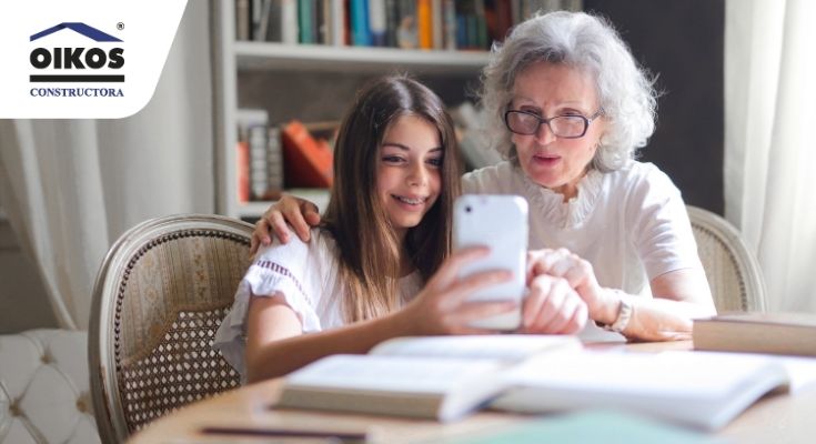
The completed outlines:
[[[278,202],[272,204],[263,216],[255,223],[250,241],[250,255],[255,254],[261,245],[272,243],[272,233],[281,241],[289,242],[289,228],[286,222],[294,229],[303,242],[309,242],[310,225],[320,223],[320,213],[314,203],[284,194]]]

